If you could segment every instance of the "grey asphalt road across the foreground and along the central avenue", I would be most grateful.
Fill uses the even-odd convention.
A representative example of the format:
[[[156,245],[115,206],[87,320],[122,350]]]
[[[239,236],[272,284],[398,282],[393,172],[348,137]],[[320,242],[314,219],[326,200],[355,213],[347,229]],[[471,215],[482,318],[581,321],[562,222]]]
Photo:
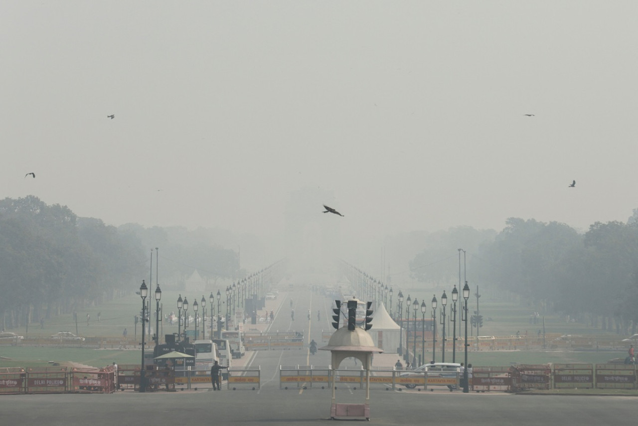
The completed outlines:
[[[294,321],[290,316],[291,299]],[[331,303],[331,299],[306,288],[280,291],[279,299],[269,300],[266,305],[276,314],[274,323],[247,327],[304,330],[306,343],[310,339],[321,342],[322,330],[329,330]],[[317,311],[321,320],[317,320]],[[394,358],[392,354],[375,356],[375,365],[393,365]],[[0,419],[2,424],[28,426],[323,424],[332,421],[330,389],[283,390],[279,386],[279,365],[327,366],[329,361],[327,352],[309,355],[307,345],[298,350],[248,353],[235,366],[260,368],[261,387],[254,391],[211,392],[198,388],[147,393],[127,390],[105,395],[3,395]],[[365,390],[346,386],[337,390],[337,402],[361,404],[365,398]],[[634,404],[634,397],[462,393],[446,388],[434,392],[373,388],[369,400],[370,422],[380,425],[629,425],[635,423]]]

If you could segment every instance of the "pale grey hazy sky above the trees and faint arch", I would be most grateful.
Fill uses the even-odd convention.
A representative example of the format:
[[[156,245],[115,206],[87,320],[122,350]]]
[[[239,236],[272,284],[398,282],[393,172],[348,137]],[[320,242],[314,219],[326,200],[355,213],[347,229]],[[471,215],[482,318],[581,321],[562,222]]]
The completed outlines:
[[[258,235],[302,187],[334,193],[317,214],[353,235],[626,221],[637,16],[634,0],[2,1],[0,198]]]

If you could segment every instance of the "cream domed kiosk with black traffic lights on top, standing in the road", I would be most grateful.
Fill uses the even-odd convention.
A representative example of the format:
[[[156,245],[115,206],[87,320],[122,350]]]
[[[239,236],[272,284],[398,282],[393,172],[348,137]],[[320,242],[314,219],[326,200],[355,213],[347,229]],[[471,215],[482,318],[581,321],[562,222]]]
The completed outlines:
[[[338,306],[341,302],[338,302]],[[339,328],[332,334],[327,346],[319,348],[320,351],[330,351],[332,355],[332,374],[330,375],[330,383],[332,385],[332,404],[330,406],[330,418],[366,418],[370,420],[370,368],[372,367],[372,355],[374,353],[383,353],[383,349],[376,348],[372,336],[368,334],[364,328],[359,327],[356,321],[357,302],[350,300],[348,303],[348,317],[344,327]],[[352,307],[352,305],[354,305]],[[355,320],[352,320],[355,318]],[[363,321],[366,324],[366,321]],[[366,370],[366,402],[364,404],[337,404],[336,387],[335,387],[335,371],[339,369],[339,364],[345,358],[357,358],[362,367]]]

